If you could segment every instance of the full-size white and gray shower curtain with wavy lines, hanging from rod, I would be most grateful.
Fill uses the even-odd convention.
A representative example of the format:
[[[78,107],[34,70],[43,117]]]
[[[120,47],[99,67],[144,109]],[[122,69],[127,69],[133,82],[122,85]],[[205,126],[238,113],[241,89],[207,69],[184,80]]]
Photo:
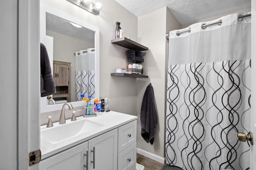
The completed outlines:
[[[169,34],[166,163],[184,170],[246,170],[250,145],[250,18]],[[218,21],[218,20],[216,20]],[[211,23],[211,22],[209,22]]]

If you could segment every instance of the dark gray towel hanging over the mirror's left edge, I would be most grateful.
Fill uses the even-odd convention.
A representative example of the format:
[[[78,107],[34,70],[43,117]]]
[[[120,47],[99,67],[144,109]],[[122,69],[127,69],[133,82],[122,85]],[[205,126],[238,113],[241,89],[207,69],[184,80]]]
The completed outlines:
[[[40,45],[40,81],[41,81],[41,97],[49,96],[56,93],[55,82],[52,77],[52,68],[46,47]]]

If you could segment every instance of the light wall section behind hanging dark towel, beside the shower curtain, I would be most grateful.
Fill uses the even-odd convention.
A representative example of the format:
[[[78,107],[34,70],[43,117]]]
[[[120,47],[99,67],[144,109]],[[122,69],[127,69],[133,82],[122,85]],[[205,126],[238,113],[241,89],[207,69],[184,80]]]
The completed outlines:
[[[167,21],[168,20],[168,21]],[[148,79],[138,79],[137,89],[137,148],[164,158],[165,152],[165,107],[166,107],[166,57],[167,46],[165,34],[173,29],[180,29],[180,23],[164,7],[138,17],[138,43],[149,48],[144,56],[144,74]],[[154,144],[146,143],[141,137],[140,109],[146,87],[151,83],[154,88],[158,125],[155,128]]]

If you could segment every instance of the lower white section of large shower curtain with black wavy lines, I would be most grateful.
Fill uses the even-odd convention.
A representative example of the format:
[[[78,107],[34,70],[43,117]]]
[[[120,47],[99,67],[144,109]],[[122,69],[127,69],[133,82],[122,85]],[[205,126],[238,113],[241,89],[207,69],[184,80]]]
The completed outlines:
[[[248,133],[243,121],[250,116],[250,68],[250,61],[168,66],[167,164],[186,170],[249,169],[243,162],[250,145],[232,137],[241,129]]]

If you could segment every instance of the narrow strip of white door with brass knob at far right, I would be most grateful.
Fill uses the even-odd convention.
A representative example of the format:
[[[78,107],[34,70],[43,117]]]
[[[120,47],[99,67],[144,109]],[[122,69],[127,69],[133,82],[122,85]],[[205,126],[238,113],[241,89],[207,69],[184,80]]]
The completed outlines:
[[[254,145],[250,147],[250,169],[256,170],[256,1],[252,0],[252,108],[251,132],[254,135]],[[248,120],[249,121],[249,120]]]

